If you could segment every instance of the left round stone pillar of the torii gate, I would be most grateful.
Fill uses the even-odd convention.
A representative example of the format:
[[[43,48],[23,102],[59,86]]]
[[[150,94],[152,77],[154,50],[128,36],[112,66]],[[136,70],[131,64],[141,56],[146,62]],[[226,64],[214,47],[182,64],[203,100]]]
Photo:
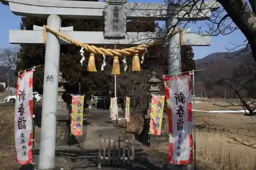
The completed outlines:
[[[47,26],[59,31],[60,25],[61,20],[58,15],[49,15]],[[42,98],[39,169],[55,168],[59,55],[59,38],[48,32],[45,55],[44,98]]]

